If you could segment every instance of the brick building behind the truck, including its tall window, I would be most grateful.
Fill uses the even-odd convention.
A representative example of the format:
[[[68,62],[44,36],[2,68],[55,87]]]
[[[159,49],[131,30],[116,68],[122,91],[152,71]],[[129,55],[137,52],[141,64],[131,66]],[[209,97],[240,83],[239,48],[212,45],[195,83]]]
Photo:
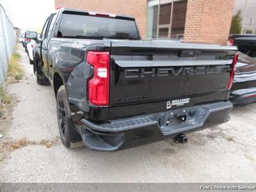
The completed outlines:
[[[132,15],[143,39],[182,37],[224,45],[234,0],[55,0],[55,7]]]

